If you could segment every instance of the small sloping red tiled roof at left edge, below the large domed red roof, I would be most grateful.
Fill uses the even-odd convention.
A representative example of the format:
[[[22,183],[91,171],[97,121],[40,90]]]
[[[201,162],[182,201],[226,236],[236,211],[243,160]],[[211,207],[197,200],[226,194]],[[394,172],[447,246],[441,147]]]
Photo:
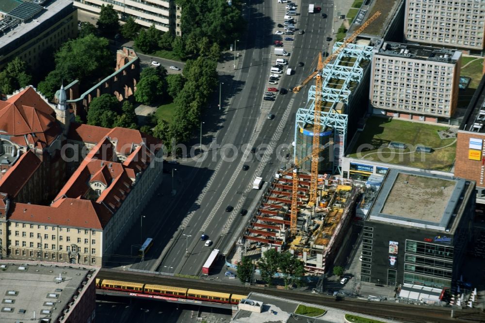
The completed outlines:
[[[0,179],[0,192],[15,198],[40,164],[40,159],[32,150],[27,150]]]

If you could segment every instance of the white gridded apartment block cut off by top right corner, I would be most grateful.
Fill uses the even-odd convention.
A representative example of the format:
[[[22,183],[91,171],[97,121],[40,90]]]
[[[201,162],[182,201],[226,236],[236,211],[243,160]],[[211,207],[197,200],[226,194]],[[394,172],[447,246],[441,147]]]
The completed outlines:
[[[408,42],[484,49],[483,0],[406,0],[404,12],[404,38]]]

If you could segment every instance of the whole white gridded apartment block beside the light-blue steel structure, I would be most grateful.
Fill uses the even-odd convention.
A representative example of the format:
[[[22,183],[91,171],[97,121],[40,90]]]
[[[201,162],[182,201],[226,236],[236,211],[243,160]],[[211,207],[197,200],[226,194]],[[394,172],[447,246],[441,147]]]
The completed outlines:
[[[372,56],[372,113],[429,122],[450,118],[458,99],[461,54],[381,41]]]

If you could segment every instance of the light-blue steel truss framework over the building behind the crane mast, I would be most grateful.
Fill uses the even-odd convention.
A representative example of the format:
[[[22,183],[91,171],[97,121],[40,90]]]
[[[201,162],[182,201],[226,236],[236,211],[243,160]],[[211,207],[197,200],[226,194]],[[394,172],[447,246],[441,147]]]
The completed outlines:
[[[335,43],[332,52],[340,46],[342,46],[342,43]],[[364,74],[366,74],[366,69],[370,68],[372,48],[372,46],[348,44],[333,63],[329,63],[323,68],[322,100],[324,103],[320,120],[322,131],[325,134],[333,130],[333,148],[330,148],[333,149],[333,152],[329,156],[334,174],[341,174],[341,158],[344,155],[347,142],[348,113],[352,113],[355,110],[352,107],[353,105],[362,104],[360,100],[353,100],[354,90],[360,84]],[[348,58],[355,60],[351,61],[351,66],[344,66],[349,64],[349,62],[344,60]],[[367,61],[367,64],[365,64],[365,61]],[[343,80],[343,83],[336,88],[335,83],[332,83],[332,79]],[[297,135],[299,132],[307,134],[308,131],[304,131],[304,129],[308,125],[313,125],[315,117],[315,85],[312,85],[308,91],[307,102],[305,108],[298,109],[295,120],[294,156],[299,160],[305,156],[300,156],[301,154],[297,153]],[[365,109],[367,109],[367,105]],[[312,133],[310,132],[309,135],[311,136]],[[322,136],[323,134],[320,133],[320,135]],[[309,162],[307,161],[306,164],[302,165],[302,168],[309,169]]]

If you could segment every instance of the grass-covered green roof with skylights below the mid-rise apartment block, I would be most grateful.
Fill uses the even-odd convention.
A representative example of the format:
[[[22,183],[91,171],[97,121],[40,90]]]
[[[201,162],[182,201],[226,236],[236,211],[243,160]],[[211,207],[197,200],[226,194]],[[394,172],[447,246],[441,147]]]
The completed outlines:
[[[455,159],[456,138],[440,139],[437,132],[446,129],[448,127],[373,116],[367,120],[349,157],[449,171]],[[404,150],[389,148],[391,141],[404,143],[406,147]],[[433,151],[416,153],[417,145],[429,146]]]

